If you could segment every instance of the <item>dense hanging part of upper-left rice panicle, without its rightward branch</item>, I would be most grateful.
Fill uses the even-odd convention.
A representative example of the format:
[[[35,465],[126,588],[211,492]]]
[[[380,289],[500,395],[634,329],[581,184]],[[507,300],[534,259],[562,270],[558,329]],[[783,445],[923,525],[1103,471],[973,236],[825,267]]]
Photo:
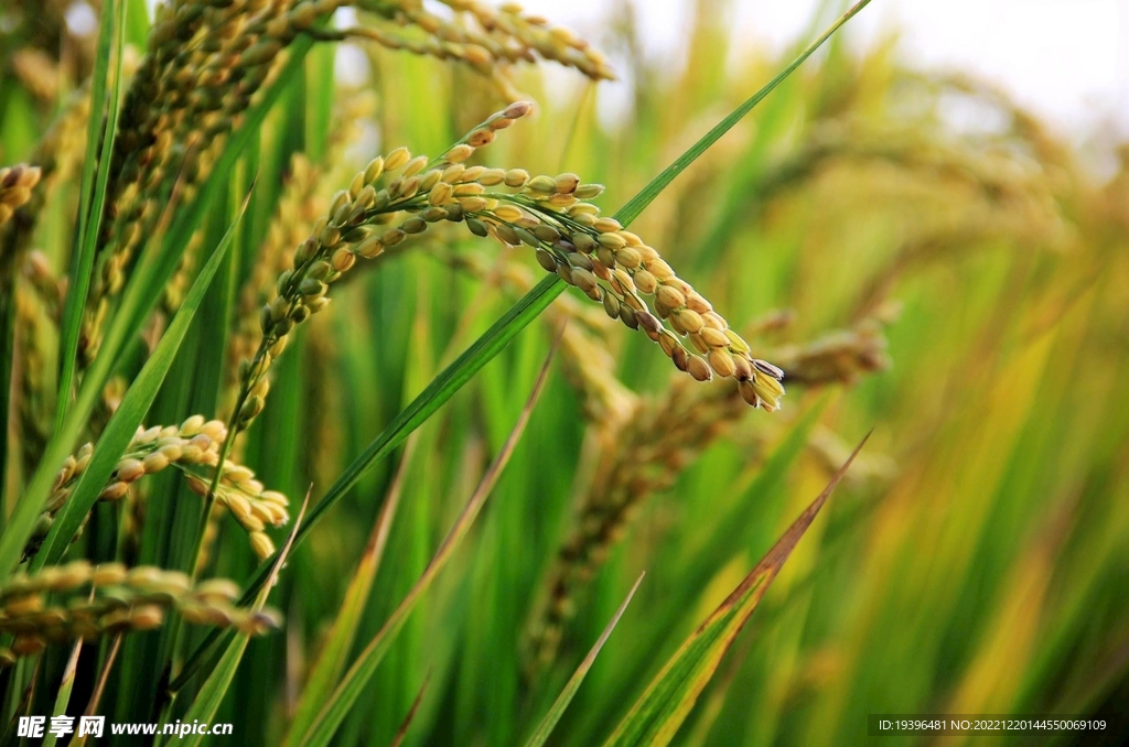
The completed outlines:
[[[104,235],[80,350],[97,353],[110,300],[167,200],[191,199],[228,133],[303,32],[347,0],[173,0],[157,7],[110,161]],[[174,194],[174,183],[176,191]]]

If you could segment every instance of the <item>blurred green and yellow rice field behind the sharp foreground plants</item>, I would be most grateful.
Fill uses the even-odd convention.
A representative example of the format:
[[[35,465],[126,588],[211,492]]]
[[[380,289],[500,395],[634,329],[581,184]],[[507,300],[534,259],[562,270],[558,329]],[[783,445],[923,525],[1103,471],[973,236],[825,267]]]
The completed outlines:
[[[756,50],[730,54],[739,41],[724,6],[697,3],[683,68],[624,55],[633,100],[613,121],[599,116],[595,84],[515,70],[508,86],[539,114],[482,162],[576,172],[607,185],[610,214],[782,67]],[[69,33],[64,11],[0,10],[0,162],[35,158],[89,70],[93,39]],[[592,41],[630,52],[632,29]],[[130,41],[143,34],[133,21]],[[347,49],[315,49],[216,202],[212,239],[257,173],[237,256],[147,422],[178,422],[189,403],[215,398],[227,354],[215,329],[229,319],[210,315],[238,298],[270,230],[294,225],[300,240],[375,152],[440,152],[508,103],[467,67]],[[501,447],[564,319],[554,374],[490,503],[333,744],[390,744],[425,682],[404,744],[524,739],[646,570],[553,737],[594,744],[872,429],[676,744],[860,744],[875,712],[1123,713],[1129,150],[1104,144],[1112,176],[1084,167],[990,81],[909,70],[895,43],[857,51],[837,37],[632,226],[788,372],[785,407],[767,414],[724,384],[688,386],[571,291],[290,559],[272,597],[285,630],[252,642],[217,720],[234,722],[240,744],[278,744],[343,600],[364,604],[356,648],[379,630]],[[296,152],[317,188],[277,213]],[[79,158],[64,148],[61,178],[47,179],[55,218],[36,229],[40,264],[16,281],[38,331],[15,342],[25,372],[53,350],[42,287],[65,269]],[[535,272],[525,251],[450,230],[355,273],[281,359],[245,462],[291,496],[324,490]],[[34,421],[50,413],[35,404],[32,424],[10,425],[9,510],[24,459],[34,464],[20,449],[35,448]],[[399,512],[358,597],[350,579],[397,469]],[[183,554],[175,528],[199,510],[193,499],[158,476],[135,500],[138,557]],[[112,536],[114,510],[98,507],[84,542]],[[216,574],[253,569],[239,531],[219,525]],[[159,631],[126,639],[111,718],[149,719],[131,693],[157,686],[146,662],[164,644]],[[58,677],[64,660],[47,656],[40,676]],[[1106,744],[1129,735],[1123,718],[1121,729]]]

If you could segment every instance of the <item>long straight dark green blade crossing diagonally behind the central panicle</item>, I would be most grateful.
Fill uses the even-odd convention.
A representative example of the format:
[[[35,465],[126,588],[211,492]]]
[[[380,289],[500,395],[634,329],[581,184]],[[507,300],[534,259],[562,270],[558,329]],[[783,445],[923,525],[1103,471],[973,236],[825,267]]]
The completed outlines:
[[[718,123],[701,140],[694,143],[689,150],[680,156],[673,164],[656,176],[634,197],[628,201],[616,213],[615,219],[624,227],[629,226],[642,210],[658,196],[659,192],[666,187],[674,178],[686,169],[706,149],[716,142],[723,134],[730,130],[743,116],[749,114],[768,94],[780,85],[800,63],[815,52],[823,42],[828,39],[840,26],[842,26],[855,14],[861,10],[869,0],[861,0],[851,8],[839,21],[829,28],[823,36],[804,50],[785,70],[770,80],[764,87],[756,91],[739,107],[734,109],[729,116]],[[365,474],[378,459],[387,456],[393,449],[408,438],[408,436],[419,428],[439,407],[458,392],[464,384],[478,374],[487,363],[506,348],[509,342],[518,335],[541,311],[564,291],[563,281],[557,275],[546,275],[517,304],[515,304],[501,318],[479,337],[455,362],[448,366],[436,379],[408,405],[408,407],[396,416],[396,419],[373,441],[365,451],[358,456],[345,468],[344,473],[330,487],[325,496],[314,507],[309,521],[296,542],[300,543],[305,534],[310,530],[317,520],[336,503],[344,494],[357,484],[361,475]],[[262,588],[266,578],[265,566],[252,579],[244,594],[244,600],[253,597]],[[184,669],[169,685],[172,691],[183,687],[189,677],[193,676],[204,666],[219,639],[224,635],[220,632],[212,632],[204,639],[195,651],[189,657]]]

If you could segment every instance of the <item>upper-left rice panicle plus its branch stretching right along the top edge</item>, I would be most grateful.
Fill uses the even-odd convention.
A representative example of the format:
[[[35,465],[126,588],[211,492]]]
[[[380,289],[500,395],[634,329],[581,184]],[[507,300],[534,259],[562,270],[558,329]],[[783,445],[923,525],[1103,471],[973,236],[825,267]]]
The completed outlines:
[[[82,361],[89,363],[97,353],[111,300],[143,237],[166,210],[167,197],[189,200],[199,190],[228,133],[300,35],[322,41],[359,35],[393,49],[463,60],[480,70],[540,56],[594,79],[611,77],[603,58],[586,43],[517,6],[444,5],[456,11],[454,19],[428,12],[418,0],[170,0],[158,6],[110,161],[104,231],[80,340]],[[386,30],[365,26],[339,32],[322,25],[347,6],[393,23]],[[418,37],[402,35],[409,26]],[[172,300],[175,306],[176,298]]]

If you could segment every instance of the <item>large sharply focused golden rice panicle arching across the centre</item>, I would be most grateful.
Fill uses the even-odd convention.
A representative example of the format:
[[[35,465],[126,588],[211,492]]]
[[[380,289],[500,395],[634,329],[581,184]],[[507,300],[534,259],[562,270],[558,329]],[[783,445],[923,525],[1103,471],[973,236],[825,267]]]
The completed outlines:
[[[334,196],[262,308],[259,349],[240,363],[236,429],[262,412],[271,362],[295,326],[325,308],[331,284],[358,258],[376,257],[440,221],[533,247],[545,271],[602,304],[610,317],[642,329],[679,370],[699,381],[733,378],[750,405],[770,412],[780,406],[784,372],[753,358],[749,344],[658,252],[614,219],[599,217],[587,201],[602,186],[575,174],[531,176],[520,168],[463,165],[531,108],[524,102],[510,105],[435,159],[413,158],[404,148],[377,157]]]

